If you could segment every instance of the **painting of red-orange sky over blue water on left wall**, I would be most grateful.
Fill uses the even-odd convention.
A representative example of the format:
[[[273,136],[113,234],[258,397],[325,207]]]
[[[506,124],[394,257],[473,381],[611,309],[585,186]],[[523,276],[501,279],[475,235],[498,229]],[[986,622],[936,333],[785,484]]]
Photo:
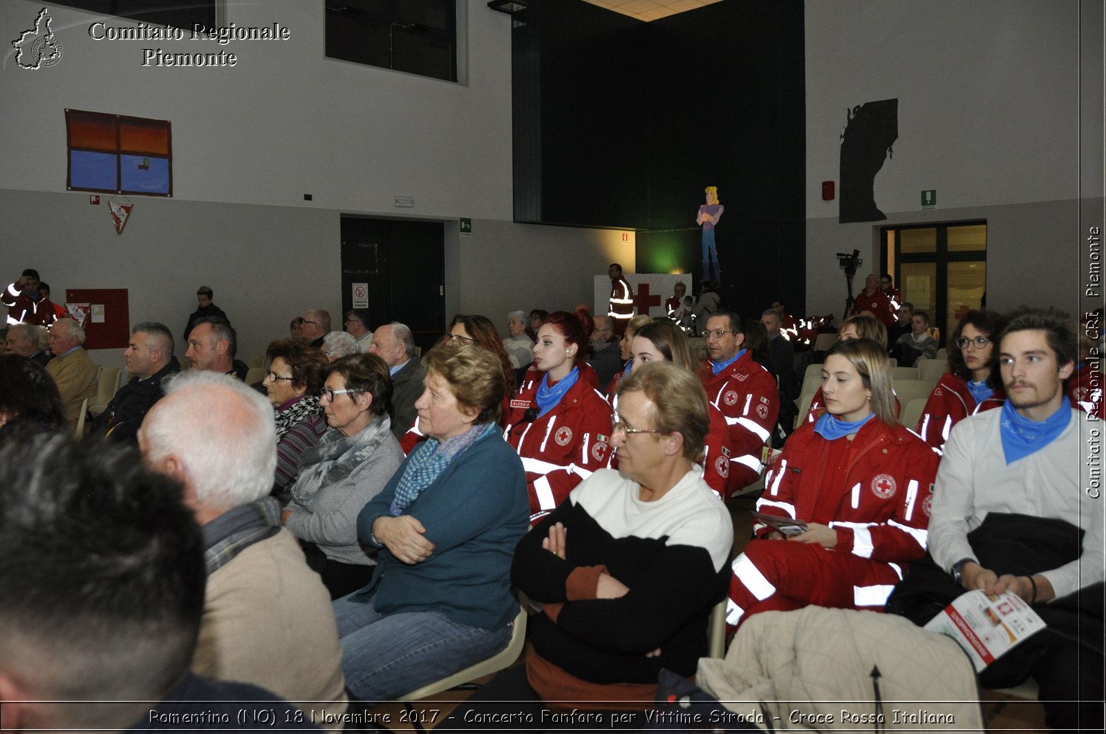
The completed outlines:
[[[66,189],[173,196],[169,120],[66,109],[65,137]]]

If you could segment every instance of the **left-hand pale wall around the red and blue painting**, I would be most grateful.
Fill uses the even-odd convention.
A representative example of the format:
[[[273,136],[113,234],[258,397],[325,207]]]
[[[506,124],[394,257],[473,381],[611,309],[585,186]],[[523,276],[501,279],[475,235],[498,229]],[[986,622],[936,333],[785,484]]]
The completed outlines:
[[[358,213],[447,222],[447,314],[483,312],[505,329],[510,310],[586,300],[592,274],[615,255],[633,269],[633,244],[511,221],[510,18],[482,1],[459,4],[465,84],[324,57],[321,2],[227,3],[227,23],[279,22],[291,39],[225,46],[94,41],[97,20],[137,21],[51,6],[58,64],[24,70],[14,50],[0,51],[0,280],[34,266],[55,295],[128,287],[132,323],[164,321],[175,334],[205,283],[240,332],[239,353],[257,354],[307,306],[337,315],[341,214]],[[0,38],[18,38],[41,9],[6,0]],[[238,62],[144,67],[144,48],[222,50]],[[131,196],[122,235],[106,206],[65,191],[66,107],[173,125],[174,196]],[[415,207],[396,209],[396,195]],[[459,217],[472,218],[472,237],[458,235]]]

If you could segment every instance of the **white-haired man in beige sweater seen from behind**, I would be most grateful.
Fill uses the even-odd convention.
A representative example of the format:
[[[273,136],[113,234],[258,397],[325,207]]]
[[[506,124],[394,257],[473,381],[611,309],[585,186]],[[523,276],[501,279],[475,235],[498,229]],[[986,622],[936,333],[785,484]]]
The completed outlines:
[[[276,466],[269,402],[225,375],[181,374],[147,413],[138,447],[150,466],[184,485],[204,532],[208,577],[192,670],[343,713],[330,594],[269,496]]]

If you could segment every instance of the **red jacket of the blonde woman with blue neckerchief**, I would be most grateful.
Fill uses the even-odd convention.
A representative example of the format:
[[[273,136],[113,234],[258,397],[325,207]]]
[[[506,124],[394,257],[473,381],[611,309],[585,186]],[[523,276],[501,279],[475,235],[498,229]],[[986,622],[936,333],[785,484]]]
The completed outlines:
[[[835,550],[901,566],[926,554],[938,462],[902,426],[872,419],[853,441],[827,441],[805,423],[768,473],[757,510],[828,525]],[[771,528],[758,523],[753,532]]]

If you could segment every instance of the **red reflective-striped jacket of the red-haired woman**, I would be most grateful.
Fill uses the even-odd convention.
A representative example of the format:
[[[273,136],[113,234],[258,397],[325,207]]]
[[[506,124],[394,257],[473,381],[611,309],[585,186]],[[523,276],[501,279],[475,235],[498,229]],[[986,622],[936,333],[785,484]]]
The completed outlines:
[[[531,523],[552,512],[577,484],[606,465],[611,441],[611,406],[583,374],[554,408],[541,418],[525,420],[526,411],[538,413],[534,396],[544,375],[532,366],[526,370],[511,400],[503,431],[503,439],[526,470]]]

